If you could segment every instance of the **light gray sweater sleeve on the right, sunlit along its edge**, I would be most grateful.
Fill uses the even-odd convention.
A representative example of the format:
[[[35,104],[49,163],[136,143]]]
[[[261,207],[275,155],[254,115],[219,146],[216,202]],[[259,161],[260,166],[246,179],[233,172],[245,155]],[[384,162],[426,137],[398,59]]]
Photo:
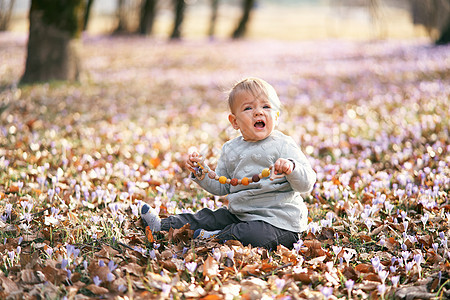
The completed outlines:
[[[292,173],[286,176],[292,189],[300,193],[311,192],[316,182],[316,172],[312,169],[300,147],[295,144],[292,138],[289,138],[281,152],[281,157],[291,159],[295,163]]]

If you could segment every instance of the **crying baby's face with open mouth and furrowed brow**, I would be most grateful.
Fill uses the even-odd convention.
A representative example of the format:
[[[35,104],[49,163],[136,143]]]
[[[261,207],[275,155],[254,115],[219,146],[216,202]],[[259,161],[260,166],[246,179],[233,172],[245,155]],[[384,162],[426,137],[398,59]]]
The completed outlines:
[[[239,130],[244,140],[261,141],[275,129],[278,111],[268,99],[255,98],[252,93],[240,91],[236,94],[231,114],[231,125]]]

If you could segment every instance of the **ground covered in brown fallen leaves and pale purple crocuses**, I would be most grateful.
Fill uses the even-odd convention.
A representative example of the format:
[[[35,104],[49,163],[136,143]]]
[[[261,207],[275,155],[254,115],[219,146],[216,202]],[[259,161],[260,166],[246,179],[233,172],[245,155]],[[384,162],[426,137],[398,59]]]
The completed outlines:
[[[0,298],[448,299],[450,47],[85,37],[79,83],[18,86],[0,35]],[[188,180],[236,136],[225,91],[274,85],[318,174],[293,249],[145,235],[226,205]]]

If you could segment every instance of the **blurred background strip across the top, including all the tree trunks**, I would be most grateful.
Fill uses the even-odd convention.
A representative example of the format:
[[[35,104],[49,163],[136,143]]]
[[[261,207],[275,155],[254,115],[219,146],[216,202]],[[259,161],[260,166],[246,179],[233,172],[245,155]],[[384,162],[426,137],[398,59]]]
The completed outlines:
[[[450,0],[0,0],[0,44],[28,37],[32,83],[78,80],[80,37],[447,44],[449,16]]]

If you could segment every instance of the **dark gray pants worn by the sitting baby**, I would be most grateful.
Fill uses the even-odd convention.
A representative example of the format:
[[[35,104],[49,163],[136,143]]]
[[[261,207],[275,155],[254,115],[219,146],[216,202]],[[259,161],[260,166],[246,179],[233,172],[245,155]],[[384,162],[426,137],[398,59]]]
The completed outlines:
[[[204,208],[195,214],[169,216],[161,220],[161,230],[178,229],[187,223],[191,225],[192,230],[199,228],[207,231],[220,230],[216,238],[221,242],[238,240],[244,246],[250,244],[269,250],[275,250],[277,245],[292,248],[299,239],[297,232],[280,229],[264,221],[243,222],[224,207],[214,211]]]

